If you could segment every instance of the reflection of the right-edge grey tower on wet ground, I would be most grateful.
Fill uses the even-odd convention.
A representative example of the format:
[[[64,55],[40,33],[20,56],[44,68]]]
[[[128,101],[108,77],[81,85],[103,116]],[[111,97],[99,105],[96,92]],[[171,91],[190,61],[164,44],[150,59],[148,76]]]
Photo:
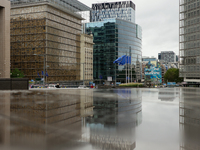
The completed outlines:
[[[180,150],[200,149],[200,89],[182,88],[179,110]]]

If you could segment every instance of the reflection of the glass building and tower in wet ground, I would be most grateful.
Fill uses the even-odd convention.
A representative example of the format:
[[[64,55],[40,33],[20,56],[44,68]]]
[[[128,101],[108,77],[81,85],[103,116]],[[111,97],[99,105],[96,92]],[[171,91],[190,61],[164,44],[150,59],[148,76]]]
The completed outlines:
[[[135,149],[135,128],[141,123],[141,110],[140,89],[95,92],[94,115],[86,119],[93,149]]]

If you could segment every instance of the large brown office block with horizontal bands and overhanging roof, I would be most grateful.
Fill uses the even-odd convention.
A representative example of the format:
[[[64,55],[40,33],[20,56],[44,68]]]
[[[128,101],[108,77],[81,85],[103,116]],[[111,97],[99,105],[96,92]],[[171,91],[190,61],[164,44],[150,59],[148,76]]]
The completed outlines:
[[[77,0],[11,1],[11,70],[46,82],[80,81],[81,11]]]

